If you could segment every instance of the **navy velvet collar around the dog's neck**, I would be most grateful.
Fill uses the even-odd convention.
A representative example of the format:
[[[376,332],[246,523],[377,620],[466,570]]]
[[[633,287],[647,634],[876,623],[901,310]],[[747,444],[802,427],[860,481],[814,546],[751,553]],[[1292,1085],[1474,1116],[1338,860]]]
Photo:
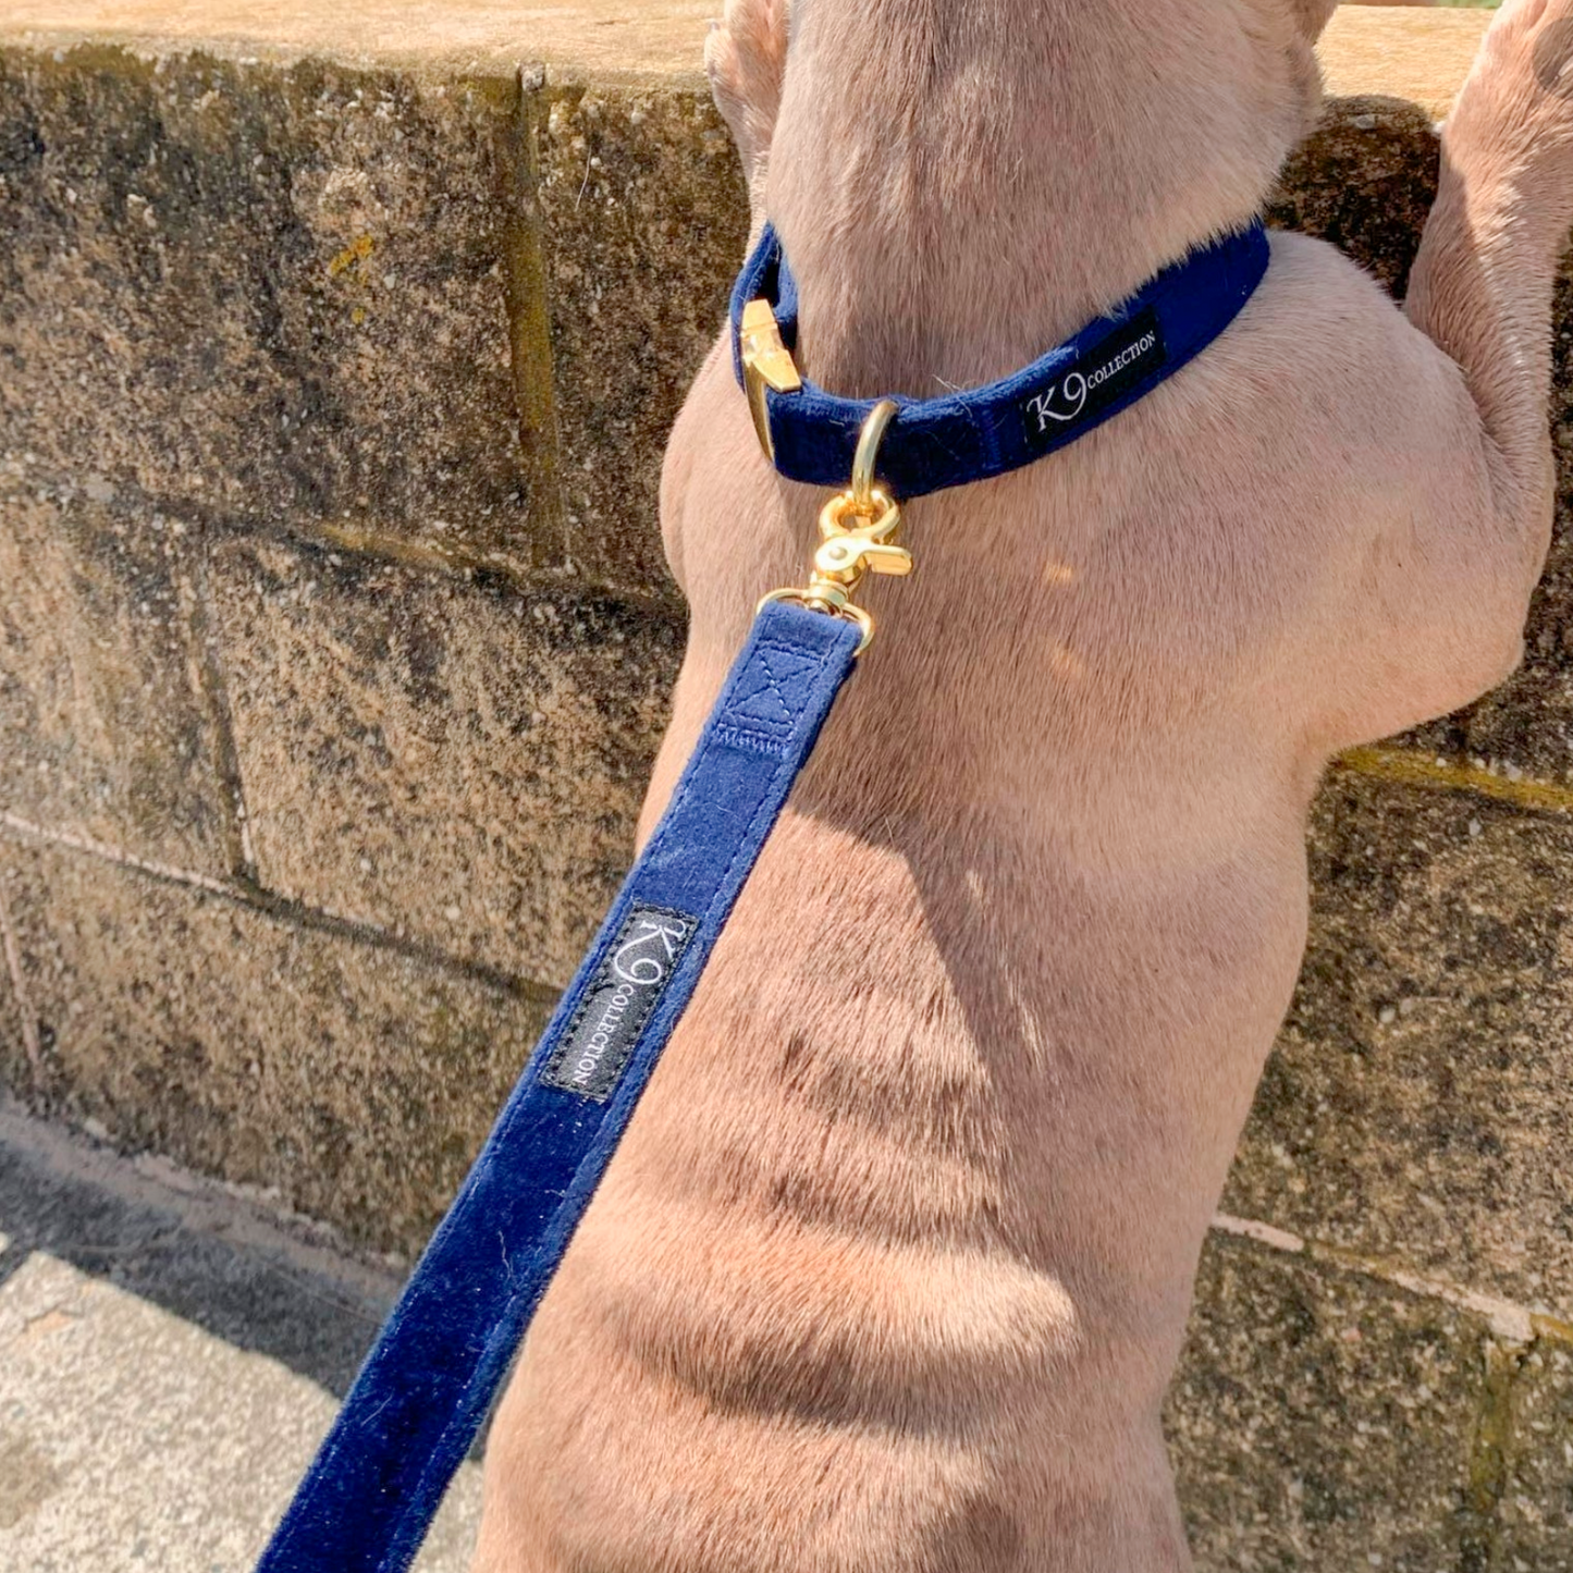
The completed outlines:
[[[942,398],[897,398],[878,477],[906,502],[1004,475],[1063,448],[1150,393],[1240,315],[1268,267],[1260,223],[1166,267],[1129,300],[1029,367]],[[782,341],[798,341],[798,285],[766,225],[731,293],[733,370],[742,382],[742,308],[768,300]],[[804,381],[764,395],[772,458],[788,480],[845,486],[875,400],[835,398]]]

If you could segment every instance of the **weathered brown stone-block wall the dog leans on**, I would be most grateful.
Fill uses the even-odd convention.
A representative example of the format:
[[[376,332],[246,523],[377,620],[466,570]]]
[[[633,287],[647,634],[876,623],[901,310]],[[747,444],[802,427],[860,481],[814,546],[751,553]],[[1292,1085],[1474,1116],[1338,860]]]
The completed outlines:
[[[692,0],[258,9],[0,19],[0,1084],[409,1252],[629,856],[744,200]],[[1274,217],[1402,289],[1480,22],[1340,17],[1391,96]],[[1573,1570],[1570,580],[1564,507],[1524,669],[1320,801],[1170,1411],[1206,1573]]]

